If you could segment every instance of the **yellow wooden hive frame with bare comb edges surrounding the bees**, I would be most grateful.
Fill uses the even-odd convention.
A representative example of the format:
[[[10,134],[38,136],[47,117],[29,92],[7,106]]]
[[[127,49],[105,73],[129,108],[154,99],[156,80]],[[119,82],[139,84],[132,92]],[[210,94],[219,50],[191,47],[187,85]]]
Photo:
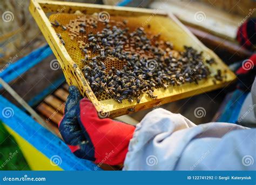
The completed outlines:
[[[210,66],[212,76],[207,80],[200,80],[198,85],[185,83],[181,86],[170,86],[166,90],[164,90],[164,88],[157,88],[154,90],[154,95],[157,95],[156,99],[151,99],[146,94],[143,94],[139,103],[136,101],[131,103],[128,100],[124,100],[122,104],[119,104],[117,101],[104,94],[100,95],[100,97],[96,97],[87,83],[86,77],[82,73],[81,59],[84,58],[84,56],[82,56],[81,51],[78,51],[78,44],[74,43],[73,40],[69,40],[69,38],[65,36],[65,33],[62,33],[62,36],[64,37],[65,43],[68,44],[61,44],[57,36],[56,28],[53,28],[49,20],[53,20],[54,18],[60,23],[66,24],[77,17],[77,15],[74,14],[77,10],[85,15],[92,15],[96,12],[107,12],[110,18],[117,20],[127,19],[127,26],[131,29],[150,22],[151,32],[161,33],[161,37],[164,38],[164,40],[173,43],[175,50],[183,51],[184,45],[193,46],[194,49],[203,51],[203,57],[214,58],[217,64]],[[170,15],[170,13],[169,15],[162,13],[161,10],[31,0],[30,12],[58,59],[68,84],[77,86],[80,92],[92,101],[97,111],[106,117],[114,118],[119,115],[129,114],[141,109],[156,107],[167,102],[212,91],[230,84],[235,79],[233,72],[228,69],[213,51],[204,46],[192,35],[176,17]],[[58,31],[60,32],[61,30]],[[111,64],[111,62],[106,64],[107,67],[111,65],[115,66],[118,64]],[[226,78],[214,84],[213,76],[217,72],[217,69],[225,70]]]

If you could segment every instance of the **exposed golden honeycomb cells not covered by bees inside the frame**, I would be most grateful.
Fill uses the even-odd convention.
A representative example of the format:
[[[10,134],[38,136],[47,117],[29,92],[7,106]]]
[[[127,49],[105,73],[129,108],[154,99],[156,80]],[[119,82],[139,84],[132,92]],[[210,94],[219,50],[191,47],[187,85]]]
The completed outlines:
[[[154,17],[154,16],[151,16]],[[179,51],[183,51],[183,46],[185,43],[188,45],[191,45],[191,40],[189,40],[187,37],[183,36],[182,30],[174,30],[172,31],[172,34],[169,34],[170,28],[164,28],[164,26],[158,22],[158,19],[156,18],[153,21],[153,18],[151,22],[154,25],[151,25],[148,23],[148,19],[150,17],[142,16],[142,17],[135,17],[135,16],[114,16],[111,15],[109,24],[110,25],[117,25],[118,27],[123,26],[123,28],[129,28],[129,32],[135,31],[137,28],[142,27],[144,28],[144,32],[146,33],[147,37],[151,38],[151,44],[154,44],[154,38],[153,36],[158,35],[158,33],[164,32],[163,36],[157,37],[158,41],[164,41],[164,40],[172,40],[174,43],[174,49],[172,49],[173,57],[177,58],[179,56]],[[163,18],[164,19],[164,18]],[[72,60],[77,64],[77,66],[82,70],[87,64],[84,61],[85,53],[82,51],[84,46],[86,44],[89,44],[88,38],[85,36],[88,33],[97,34],[97,32],[102,31],[105,28],[105,23],[98,21],[97,15],[84,15],[82,13],[80,14],[70,14],[70,13],[59,13],[59,14],[52,14],[49,17],[50,22],[54,23],[55,20],[60,24],[59,26],[55,26],[53,24],[53,28],[55,29],[57,34],[60,34],[60,44],[61,39],[65,42],[65,49],[68,51],[70,57]],[[124,23],[124,20],[127,20],[127,23]],[[79,24],[86,23],[85,31],[86,34],[80,33],[80,27]],[[93,27],[93,24],[97,25],[97,28]],[[63,26],[65,26],[65,29],[63,29]],[[170,31],[171,32],[171,31]],[[178,37],[179,36],[179,37]],[[172,39],[170,39],[172,38]],[[181,42],[183,41],[183,42]],[[186,41],[186,42],[185,42]],[[159,42],[161,43],[161,42]],[[162,45],[163,46],[163,45]],[[181,47],[182,46],[182,47]],[[194,46],[194,45],[193,45]],[[163,48],[163,47],[161,47]],[[164,48],[163,48],[164,49]],[[153,57],[153,54],[147,51],[144,51],[142,49],[137,49],[134,46],[134,43],[128,42],[124,46],[125,51],[135,52],[139,54],[140,56],[145,56],[145,58],[151,58]],[[99,53],[95,52],[93,53],[91,49],[88,49],[87,55],[90,58],[93,58],[97,56]],[[115,67],[117,69],[122,69],[125,65],[125,61],[119,60],[116,57],[106,57],[104,59],[103,63],[106,66],[106,72],[108,72],[111,67]],[[217,66],[217,65],[216,65]],[[216,68],[211,67],[211,71],[216,71]],[[214,74],[214,73],[213,73]],[[86,76],[85,76],[85,79]],[[89,81],[89,80],[88,80]],[[192,87],[192,86],[191,86]],[[156,86],[154,89],[159,89],[162,87]],[[169,94],[169,91],[165,91],[163,94]],[[100,92],[96,94],[96,97],[98,101],[104,101],[112,99],[111,96],[105,92]]]

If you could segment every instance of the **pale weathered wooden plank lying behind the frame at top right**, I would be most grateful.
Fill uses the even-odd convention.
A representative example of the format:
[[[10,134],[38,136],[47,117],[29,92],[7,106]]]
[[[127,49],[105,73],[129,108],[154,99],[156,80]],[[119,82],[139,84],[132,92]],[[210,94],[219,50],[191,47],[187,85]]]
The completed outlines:
[[[237,35],[238,25],[244,18],[196,1],[154,1],[150,8],[162,8],[176,15],[184,24],[206,30],[232,42]]]

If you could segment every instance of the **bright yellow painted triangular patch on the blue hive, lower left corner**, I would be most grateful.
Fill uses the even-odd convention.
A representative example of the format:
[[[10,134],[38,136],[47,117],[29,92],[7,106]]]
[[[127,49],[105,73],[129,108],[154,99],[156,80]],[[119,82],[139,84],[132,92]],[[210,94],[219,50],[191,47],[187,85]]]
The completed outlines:
[[[4,124],[4,127],[12,136],[14,136],[14,139],[18,143],[19,148],[22,150],[22,153],[32,170],[63,170],[59,166],[51,165],[48,157],[33,147],[9,126]]]

